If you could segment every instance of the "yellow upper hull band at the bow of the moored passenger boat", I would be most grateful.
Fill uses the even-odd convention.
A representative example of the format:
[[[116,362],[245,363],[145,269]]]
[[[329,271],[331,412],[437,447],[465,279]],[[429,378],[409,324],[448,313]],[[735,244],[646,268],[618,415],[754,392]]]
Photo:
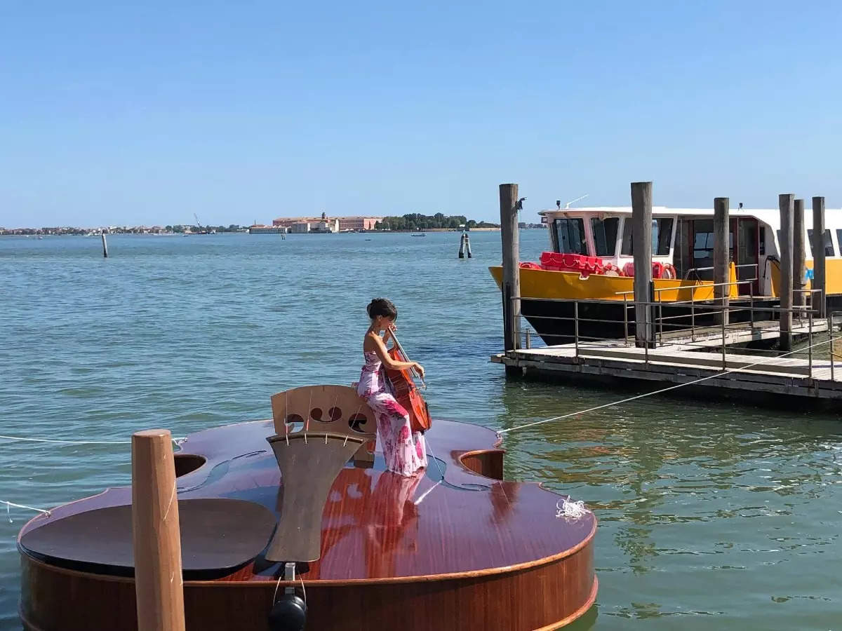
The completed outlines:
[[[499,265],[488,268],[497,286],[503,285],[503,268]],[[736,280],[731,266],[731,280]],[[713,300],[713,286],[692,280],[656,278],[655,300]],[[520,295],[522,298],[556,298],[565,300],[623,300],[621,292],[634,291],[634,278],[627,276],[581,276],[578,272],[555,272],[547,269],[520,268]],[[730,295],[736,298],[737,287],[731,286]],[[633,294],[626,294],[626,300],[633,300]]]

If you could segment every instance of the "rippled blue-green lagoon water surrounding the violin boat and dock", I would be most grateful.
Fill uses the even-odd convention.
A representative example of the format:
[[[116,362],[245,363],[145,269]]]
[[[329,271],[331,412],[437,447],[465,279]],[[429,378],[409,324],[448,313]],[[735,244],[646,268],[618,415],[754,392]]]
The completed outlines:
[[[524,231],[535,260],[546,232]],[[128,440],[270,416],[269,396],[359,376],[365,305],[395,300],[434,416],[514,427],[620,399],[509,382],[498,233],[0,238],[2,433]],[[507,472],[600,518],[581,629],[842,628],[842,424],[828,414],[649,398],[507,434]],[[131,481],[129,445],[0,440],[0,500],[46,508]],[[0,627],[19,628],[12,509]]]

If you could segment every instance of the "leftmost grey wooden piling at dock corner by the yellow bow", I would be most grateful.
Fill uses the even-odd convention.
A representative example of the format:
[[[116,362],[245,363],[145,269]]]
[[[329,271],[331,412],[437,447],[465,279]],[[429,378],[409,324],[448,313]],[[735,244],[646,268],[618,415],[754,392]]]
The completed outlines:
[[[503,336],[504,348],[520,348],[520,262],[518,244],[518,185],[500,184],[500,238],[503,240]],[[506,366],[506,374],[520,374],[520,369]]]

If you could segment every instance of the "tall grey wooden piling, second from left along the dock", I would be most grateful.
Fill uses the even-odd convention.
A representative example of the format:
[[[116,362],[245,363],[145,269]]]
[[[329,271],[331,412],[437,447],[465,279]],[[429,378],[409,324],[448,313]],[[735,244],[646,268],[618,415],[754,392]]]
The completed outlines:
[[[645,305],[652,283],[652,183],[632,182],[632,252],[634,254],[635,346],[649,347],[652,310]],[[644,303],[644,304],[641,304]]]

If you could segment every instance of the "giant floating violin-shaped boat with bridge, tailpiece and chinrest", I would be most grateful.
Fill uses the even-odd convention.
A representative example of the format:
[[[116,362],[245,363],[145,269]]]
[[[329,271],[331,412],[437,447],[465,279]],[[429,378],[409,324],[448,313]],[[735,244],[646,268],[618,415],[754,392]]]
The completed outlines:
[[[292,591],[306,629],[346,631],[550,629],[594,602],[594,515],[502,480],[495,432],[437,420],[408,478],[384,469],[351,388],[281,392],[272,411],[175,453],[188,629],[289,628]],[[136,628],[131,487],[35,517],[18,546],[24,628]]]

